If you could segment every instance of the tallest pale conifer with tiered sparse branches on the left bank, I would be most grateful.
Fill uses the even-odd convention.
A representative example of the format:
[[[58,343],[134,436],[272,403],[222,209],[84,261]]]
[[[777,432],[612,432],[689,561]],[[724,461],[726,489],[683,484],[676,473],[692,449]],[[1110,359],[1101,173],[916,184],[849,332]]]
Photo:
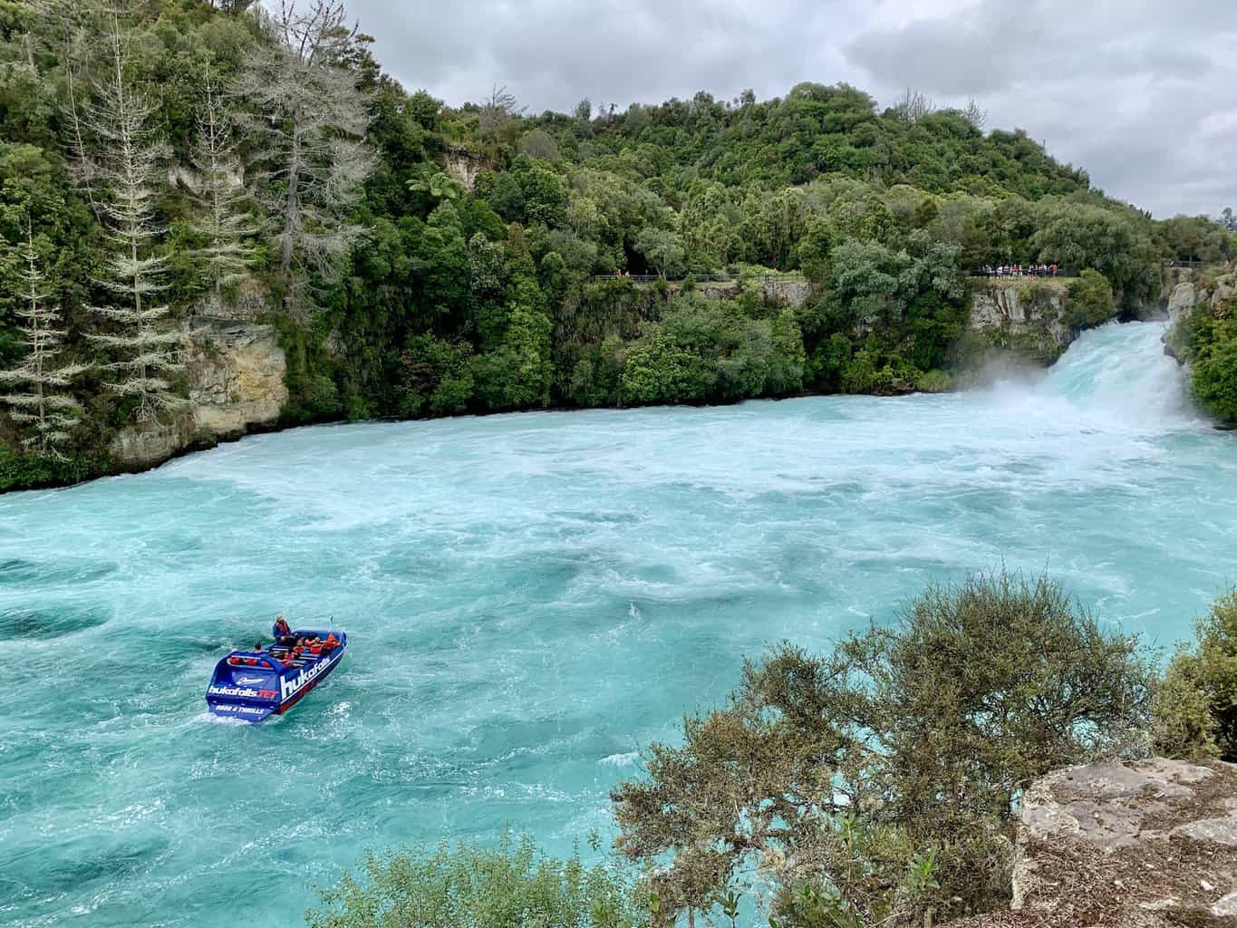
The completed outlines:
[[[166,230],[155,217],[160,165],[167,146],[151,129],[156,104],[125,78],[120,22],[111,17],[110,75],[96,85],[90,131],[100,140],[95,165],[99,207],[113,243],[99,286],[111,297],[90,309],[111,323],[111,332],[90,338],[108,349],[111,372],[106,386],[134,403],[139,422],[186,401],[172,392],[168,377],[184,367],[184,332],[168,323],[171,308],[157,297],[166,288],[166,261],[153,251]]]

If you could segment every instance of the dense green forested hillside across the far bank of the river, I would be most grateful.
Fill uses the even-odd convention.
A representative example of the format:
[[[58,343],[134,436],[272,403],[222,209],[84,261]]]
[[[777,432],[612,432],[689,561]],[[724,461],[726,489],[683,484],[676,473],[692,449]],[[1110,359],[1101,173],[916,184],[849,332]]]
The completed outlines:
[[[974,267],[1089,270],[1087,324],[1168,259],[1237,252],[914,94],[456,109],[334,0],[0,0],[0,489],[103,473],[119,431],[183,415],[207,317],[278,327],[287,423],[892,393],[976,350]],[[773,273],[811,297],[767,299]]]

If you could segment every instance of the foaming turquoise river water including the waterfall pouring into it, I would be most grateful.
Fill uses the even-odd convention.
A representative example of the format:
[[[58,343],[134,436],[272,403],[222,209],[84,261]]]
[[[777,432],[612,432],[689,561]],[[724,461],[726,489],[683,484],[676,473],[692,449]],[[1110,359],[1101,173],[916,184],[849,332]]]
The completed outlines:
[[[0,924],[273,928],[366,848],[567,851],[745,655],[1002,562],[1170,645],[1237,580],[1237,436],[1160,334],[969,393],[307,428],[0,497]],[[213,724],[277,611],[345,663]]]

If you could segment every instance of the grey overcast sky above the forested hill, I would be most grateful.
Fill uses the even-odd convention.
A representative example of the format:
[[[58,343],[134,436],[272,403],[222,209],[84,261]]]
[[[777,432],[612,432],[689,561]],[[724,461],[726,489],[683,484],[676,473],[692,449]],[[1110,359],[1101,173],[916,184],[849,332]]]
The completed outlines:
[[[531,111],[800,80],[974,97],[1110,195],[1237,208],[1237,0],[348,0],[409,90]]]

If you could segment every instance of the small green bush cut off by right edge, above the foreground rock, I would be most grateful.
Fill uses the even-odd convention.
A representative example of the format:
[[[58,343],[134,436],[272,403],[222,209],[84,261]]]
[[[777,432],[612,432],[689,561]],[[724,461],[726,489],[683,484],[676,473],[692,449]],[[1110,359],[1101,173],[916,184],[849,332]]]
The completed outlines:
[[[1185,760],[1237,761],[1237,590],[1216,600],[1179,645],[1155,692],[1155,750]]]

